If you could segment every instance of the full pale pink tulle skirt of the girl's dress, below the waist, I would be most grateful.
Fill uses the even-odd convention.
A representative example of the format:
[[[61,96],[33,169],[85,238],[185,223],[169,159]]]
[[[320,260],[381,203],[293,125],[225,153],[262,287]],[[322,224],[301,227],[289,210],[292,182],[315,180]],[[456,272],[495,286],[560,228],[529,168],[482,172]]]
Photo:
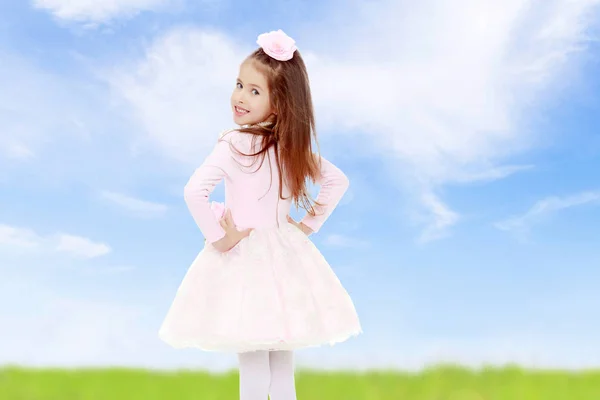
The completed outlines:
[[[333,345],[361,333],[350,296],[294,225],[255,229],[227,253],[207,244],[159,330],[175,348],[246,352]]]

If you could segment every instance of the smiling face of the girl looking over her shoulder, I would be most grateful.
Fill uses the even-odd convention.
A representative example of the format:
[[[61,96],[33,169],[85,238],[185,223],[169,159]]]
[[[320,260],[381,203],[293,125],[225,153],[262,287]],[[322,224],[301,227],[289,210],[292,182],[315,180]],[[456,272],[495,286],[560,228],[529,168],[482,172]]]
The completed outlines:
[[[231,94],[231,110],[237,125],[257,124],[274,114],[267,80],[252,61],[240,66],[236,87]]]

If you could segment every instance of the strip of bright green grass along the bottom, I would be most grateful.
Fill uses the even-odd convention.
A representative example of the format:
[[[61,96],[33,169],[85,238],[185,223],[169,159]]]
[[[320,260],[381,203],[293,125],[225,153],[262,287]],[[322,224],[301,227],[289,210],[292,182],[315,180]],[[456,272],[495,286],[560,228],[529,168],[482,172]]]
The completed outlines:
[[[237,373],[0,368],[0,400],[236,400]],[[299,400],[600,400],[600,370],[298,370]]]

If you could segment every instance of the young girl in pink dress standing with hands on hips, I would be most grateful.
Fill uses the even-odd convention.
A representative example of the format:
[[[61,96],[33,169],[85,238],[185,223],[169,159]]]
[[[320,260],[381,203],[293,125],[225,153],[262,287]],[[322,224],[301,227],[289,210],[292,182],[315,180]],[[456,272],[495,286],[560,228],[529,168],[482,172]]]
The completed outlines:
[[[348,179],[312,151],[306,67],[281,30],[258,37],[231,96],[240,128],[221,135],[185,187],[206,238],[160,328],[175,348],[238,353],[240,399],[294,400],[293,350],[361,333],[352,300],[308,239]],[[209,196],[225,180],[223,213]],[[320,185],[311,201],[307,180]],[[292,202],[307,211],[289,217]]]

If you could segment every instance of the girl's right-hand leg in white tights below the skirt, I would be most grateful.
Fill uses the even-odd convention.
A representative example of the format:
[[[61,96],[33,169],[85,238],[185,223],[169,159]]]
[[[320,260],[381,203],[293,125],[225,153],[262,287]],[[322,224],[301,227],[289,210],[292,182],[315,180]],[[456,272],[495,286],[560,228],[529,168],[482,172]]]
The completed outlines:
[[[294,380],[294,353],[292,351],[270,351],[271,400],[296,400]]]

